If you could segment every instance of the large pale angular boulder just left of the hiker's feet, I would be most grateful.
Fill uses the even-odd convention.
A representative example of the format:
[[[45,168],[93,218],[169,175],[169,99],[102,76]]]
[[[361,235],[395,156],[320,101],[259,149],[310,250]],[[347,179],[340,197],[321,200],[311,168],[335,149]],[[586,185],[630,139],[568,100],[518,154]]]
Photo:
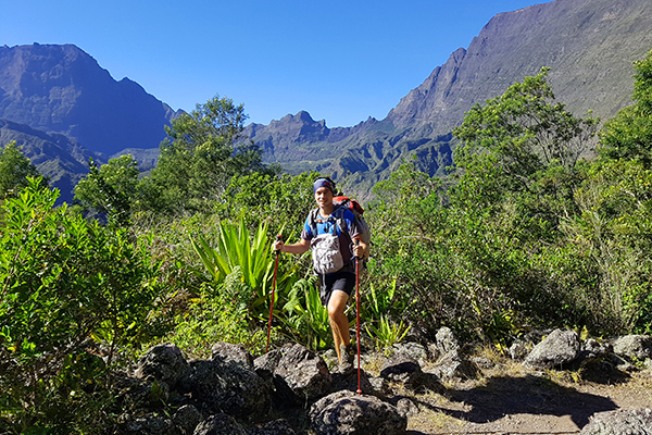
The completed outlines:
[[[313,400],[328,391],[333,377],[322,357],[298,344],[284,347],[281,352],[274,370],[277,389],[291,391],[301,401]]]

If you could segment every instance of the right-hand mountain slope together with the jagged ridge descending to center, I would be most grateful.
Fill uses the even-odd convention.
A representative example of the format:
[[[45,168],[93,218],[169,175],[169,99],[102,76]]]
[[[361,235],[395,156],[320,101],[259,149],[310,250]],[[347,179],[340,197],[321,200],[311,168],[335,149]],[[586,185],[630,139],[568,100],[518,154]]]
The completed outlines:
[[[273,122],[274,128],[258,125],[250,137],[264,146],[268,161],[293,172],[318,167],[374,181],[416,154],[419,169],[437,174],[452,162],[450,133],[465,112],[544,66],[567,109],[578,116],[592,110],[612,117],[631,103],[632,63],[652,49],[651,28],[650,0],[555,0],[501,13],[384,120],[340,128],[339,136],[333,130],[290,136],[276,124],[290,121],[286,116]]]

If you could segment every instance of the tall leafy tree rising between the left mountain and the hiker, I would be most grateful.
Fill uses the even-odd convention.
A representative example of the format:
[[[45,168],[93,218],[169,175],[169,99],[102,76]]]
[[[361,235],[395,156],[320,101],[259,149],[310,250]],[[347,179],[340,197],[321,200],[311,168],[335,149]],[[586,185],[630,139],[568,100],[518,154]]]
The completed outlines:
[[[264,170],[260,148],[242,140],[246,119],[243,104],[215,96],[173,120],[148,186],[150,207],[173,214],[203,210],[231,176]]]

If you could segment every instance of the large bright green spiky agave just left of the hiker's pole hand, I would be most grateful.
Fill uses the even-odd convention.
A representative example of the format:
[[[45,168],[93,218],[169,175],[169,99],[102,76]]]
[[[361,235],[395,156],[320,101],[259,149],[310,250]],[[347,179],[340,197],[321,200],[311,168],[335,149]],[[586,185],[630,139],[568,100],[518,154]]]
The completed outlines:
[[[190,237],[192,248],[213,277],[214,284],[223,284],[236,268],[239,269],[242,282],[253,294],[250,307],[259,314],[265,312],[263,306],[269,300],[272,293],[275,263],[272,241],[267,237],[266,223],[260,223],[250,239],[242,219],[239,224],[220,223],[216,248],[212,248],[201,235]],[[278,289],[285,293],[291,287],[297,279],[296,270],[296,266],[290,268],[277,276]]]

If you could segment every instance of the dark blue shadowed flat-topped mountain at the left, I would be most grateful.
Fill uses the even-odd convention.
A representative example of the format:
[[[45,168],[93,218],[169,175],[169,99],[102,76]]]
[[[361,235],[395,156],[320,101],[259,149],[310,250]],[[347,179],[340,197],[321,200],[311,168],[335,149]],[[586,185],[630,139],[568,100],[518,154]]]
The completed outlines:
[[[73,45],[0,47],[0,119],[64,134],[110,156],[159,147],[174,115]]]

